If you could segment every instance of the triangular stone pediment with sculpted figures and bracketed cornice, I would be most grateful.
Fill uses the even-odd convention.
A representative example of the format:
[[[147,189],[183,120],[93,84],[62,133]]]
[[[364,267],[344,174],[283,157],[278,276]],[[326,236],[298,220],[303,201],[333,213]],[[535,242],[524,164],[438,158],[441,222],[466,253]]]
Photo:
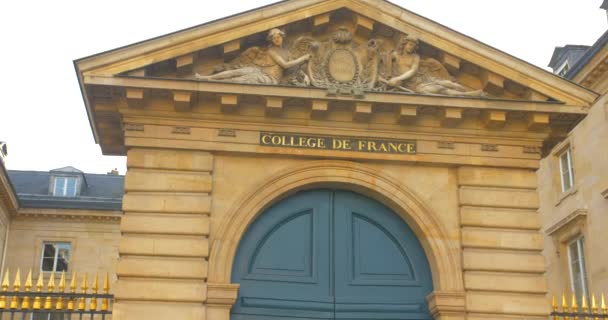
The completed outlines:
[[[273,34],[283,43],[273,45]],[[75,67],[108,154],[124,153],[123,130],[139,130],[125,127],[121,106],[169,101],[183,112],[219,101],[230,114],[261,99],[267,115],[305,102],[316,117],[348,102],[355,121],[376,110],[396,111],[399,123],[433,112],[442,126],[469,114],[488,128],[511,119],[513,128],[551,131],[551,123],[564,132],[598,96],[384,0],[287,0]]]

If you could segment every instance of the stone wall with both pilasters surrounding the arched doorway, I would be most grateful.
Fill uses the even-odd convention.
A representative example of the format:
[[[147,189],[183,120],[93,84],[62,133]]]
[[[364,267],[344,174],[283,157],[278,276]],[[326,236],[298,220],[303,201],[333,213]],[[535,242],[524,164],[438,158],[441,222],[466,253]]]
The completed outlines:
[[[533,170],[132,148],[115,319],[228,320],[240,237],[311,188],[356,191],[404,218],[431,264],[436,319],[548,314]]]

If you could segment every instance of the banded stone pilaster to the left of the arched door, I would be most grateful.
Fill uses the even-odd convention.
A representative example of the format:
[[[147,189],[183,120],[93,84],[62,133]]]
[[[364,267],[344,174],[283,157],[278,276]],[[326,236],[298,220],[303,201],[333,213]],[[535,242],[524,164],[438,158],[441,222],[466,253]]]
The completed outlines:
[[[127,154],[114,319],[205,319],[213,157]]]

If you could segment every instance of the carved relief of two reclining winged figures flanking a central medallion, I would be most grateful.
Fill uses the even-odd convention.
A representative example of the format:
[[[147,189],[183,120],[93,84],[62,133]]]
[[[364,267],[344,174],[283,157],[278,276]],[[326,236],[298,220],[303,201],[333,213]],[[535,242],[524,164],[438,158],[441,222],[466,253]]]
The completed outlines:
[[[459,96],[485,95],[456,82],[433,58],[417,53],[418,39],[400,35],[393,50],[382,50],[382,40],[354,41],[346,27],[325,40],[299,37],[284,46],[285,33],[268,32],[268,47],[251,47],[234,60],[216,66],[210,75],[195,78],[253,84],[284,84],[328,89],[328,94],[396,91]]]

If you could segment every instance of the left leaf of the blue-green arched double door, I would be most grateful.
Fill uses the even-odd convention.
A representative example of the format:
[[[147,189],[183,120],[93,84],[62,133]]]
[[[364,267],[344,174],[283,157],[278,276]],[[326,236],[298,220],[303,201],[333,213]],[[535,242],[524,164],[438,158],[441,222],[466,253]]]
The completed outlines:
[[[232,319],[331,319],[330,196],[311,191],[267,209],[241,240]]]

